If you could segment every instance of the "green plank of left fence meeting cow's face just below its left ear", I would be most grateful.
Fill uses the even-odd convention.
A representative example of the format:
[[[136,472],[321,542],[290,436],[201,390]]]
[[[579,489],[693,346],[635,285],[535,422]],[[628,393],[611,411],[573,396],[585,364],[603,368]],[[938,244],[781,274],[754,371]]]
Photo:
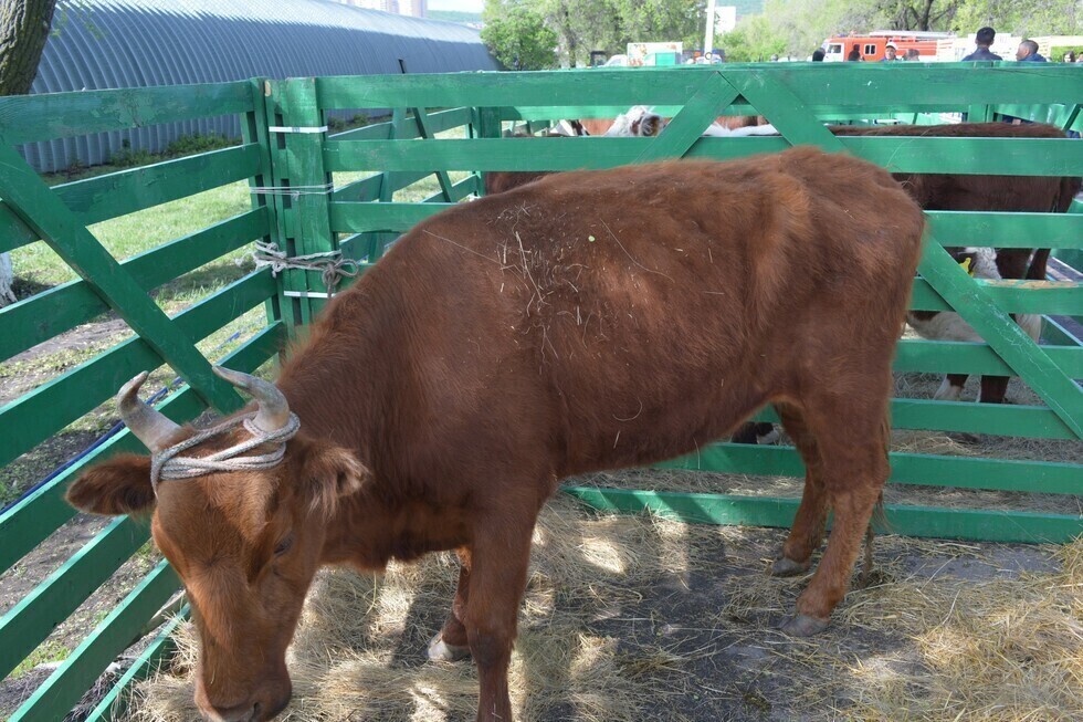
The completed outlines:
[[[0,676],[7,677],[149,537],[146,521],[113,520],[0,617]]]

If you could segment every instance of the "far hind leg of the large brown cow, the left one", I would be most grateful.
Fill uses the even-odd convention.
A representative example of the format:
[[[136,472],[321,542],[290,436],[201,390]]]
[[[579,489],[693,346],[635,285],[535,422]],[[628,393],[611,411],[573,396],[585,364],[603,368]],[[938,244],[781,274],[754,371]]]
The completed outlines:
[[[776,404],[782,428],[790,435],[805,461],[805,492],[790,535],[782,545],[782,555],[771,566],[775,576],[802,574],[812,565],[812,553],[823,541],[828,519],[827,489],[820,463],[820,450],[800,410],[795,406]]]

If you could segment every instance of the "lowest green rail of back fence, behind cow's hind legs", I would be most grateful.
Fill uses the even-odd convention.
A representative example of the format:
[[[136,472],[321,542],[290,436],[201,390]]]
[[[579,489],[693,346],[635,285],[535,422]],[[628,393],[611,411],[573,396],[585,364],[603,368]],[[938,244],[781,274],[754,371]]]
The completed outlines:
[[[599,511],[639,513],[646,510],[690,524],[788,527],[799,500],[730,496],[591,486],[562,491]],[[1026,544],[1065,544],[1083,534],[1083,517],[1014,511],[979,511],[887,504],[889,527],[880,533],[935,538],[963,538]]]

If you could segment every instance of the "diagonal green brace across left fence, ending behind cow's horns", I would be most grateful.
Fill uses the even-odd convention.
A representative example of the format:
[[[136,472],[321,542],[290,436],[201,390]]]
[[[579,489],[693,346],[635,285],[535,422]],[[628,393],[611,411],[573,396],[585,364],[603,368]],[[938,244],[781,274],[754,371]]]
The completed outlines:
[[[192,341],[103,248],[67,206],[10,146],[0,140],[0,197],[124,318],[199,396],[219,411],[242,406],[232,386],[211,372]],[[127,379],[118,379],[123,383]]]

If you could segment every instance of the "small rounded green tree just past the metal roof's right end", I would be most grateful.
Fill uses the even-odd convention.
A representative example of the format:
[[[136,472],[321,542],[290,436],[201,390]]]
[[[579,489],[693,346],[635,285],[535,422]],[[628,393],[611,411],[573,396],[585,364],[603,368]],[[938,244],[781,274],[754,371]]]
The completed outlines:
[[[511,70],[545,70],[557,62],[557,34],[533,3],[486,0],[482,40]]]

